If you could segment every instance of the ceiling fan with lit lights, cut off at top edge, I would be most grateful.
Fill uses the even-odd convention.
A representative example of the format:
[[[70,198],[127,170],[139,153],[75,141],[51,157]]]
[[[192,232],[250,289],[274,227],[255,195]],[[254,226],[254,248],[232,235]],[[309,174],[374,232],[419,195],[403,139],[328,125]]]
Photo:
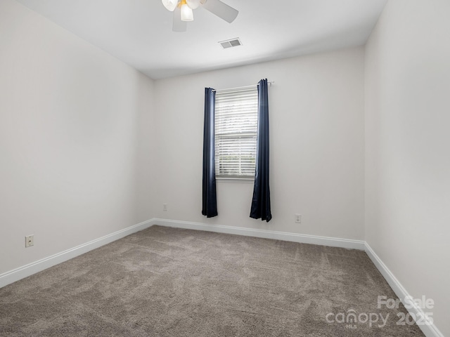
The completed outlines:
[[[230,23],[236,19],[239,13],[220,0],[162,0],[162,4],[169,11],[174,12],[172,26],[174,32],[186,32],[187,22],[194,20],[192,10],[199,6]]]

